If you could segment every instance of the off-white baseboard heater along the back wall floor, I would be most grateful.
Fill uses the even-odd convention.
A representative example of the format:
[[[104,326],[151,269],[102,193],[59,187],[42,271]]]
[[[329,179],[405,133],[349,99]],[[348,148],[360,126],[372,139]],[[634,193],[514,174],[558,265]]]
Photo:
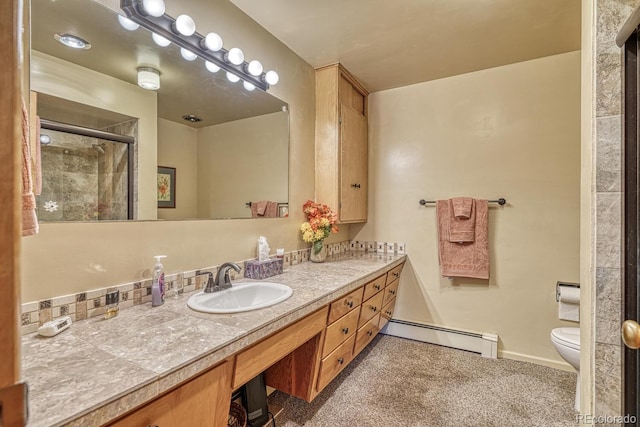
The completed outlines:
[[[380,331],[386,335],[479,353],[482,357],[498,358],[498,335],[444,328],[426,323],[391,319]]]

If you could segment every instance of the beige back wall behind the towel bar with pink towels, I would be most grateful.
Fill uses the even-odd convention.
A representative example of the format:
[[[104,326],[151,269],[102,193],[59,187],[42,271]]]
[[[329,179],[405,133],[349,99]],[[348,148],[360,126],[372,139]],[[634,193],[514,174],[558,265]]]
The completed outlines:
[[[357,240],[407,244],[394,315],[495,332],[504,357],[555,366],[555,284],[579,280],[580,53],[374,93],[369,222]],[[491,279],[440,277],[434,207],[495,199]]]

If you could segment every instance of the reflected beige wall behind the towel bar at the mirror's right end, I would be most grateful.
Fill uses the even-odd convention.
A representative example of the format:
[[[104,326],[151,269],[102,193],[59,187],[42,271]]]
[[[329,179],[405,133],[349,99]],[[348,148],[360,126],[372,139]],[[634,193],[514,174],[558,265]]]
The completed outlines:
[[[199,129],[198,217],[250,218],[246,202],[286,202],[288,128],[278,112]]]

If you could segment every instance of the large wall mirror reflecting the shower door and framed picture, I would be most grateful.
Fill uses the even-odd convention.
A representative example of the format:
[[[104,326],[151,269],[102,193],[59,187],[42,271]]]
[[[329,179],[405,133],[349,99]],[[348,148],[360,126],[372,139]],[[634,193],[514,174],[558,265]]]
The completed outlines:
[[[160,47],[142,27],[125,29],[94,1],[31,4],[40,221],[286,214],[285,102],[183,59],[175,45]],[[90,48],[63,45],[66,34]],[[157,90],[138,85],[149,68]]]

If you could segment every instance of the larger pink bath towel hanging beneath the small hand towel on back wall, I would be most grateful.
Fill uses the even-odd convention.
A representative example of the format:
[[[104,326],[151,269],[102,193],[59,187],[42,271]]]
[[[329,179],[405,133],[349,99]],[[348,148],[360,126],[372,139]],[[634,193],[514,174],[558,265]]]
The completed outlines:
[[[489,204],[475,200],[475,236],[473,242],[449,241],[450,219],[453,216],[449,200],[436,202],[438,218],[438,255],[443,277],[489,278]],[[472,214],[473,216],[473,214]]]

